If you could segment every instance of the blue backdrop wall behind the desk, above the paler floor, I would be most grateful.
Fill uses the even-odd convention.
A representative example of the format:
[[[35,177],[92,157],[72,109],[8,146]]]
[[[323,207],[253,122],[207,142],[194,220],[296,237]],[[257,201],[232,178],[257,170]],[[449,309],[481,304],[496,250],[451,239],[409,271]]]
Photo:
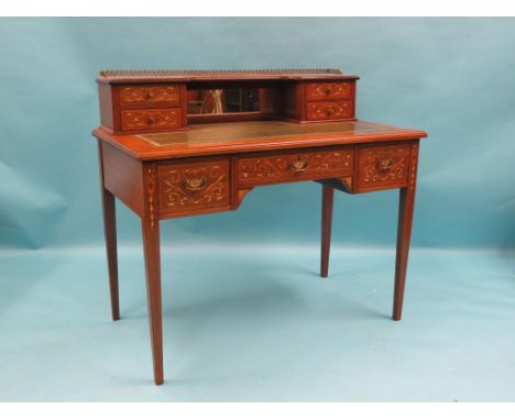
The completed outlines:
[[[358,118],[426,130],[413,246],[513,247],[511,19],[2,19],[0,245],[100,245],[95,78],[105,68],[337,67]],[[335,203],[333,244],[392,246],[397,191]],[[258,188],[163,242],[317,243],[320,186]],[[140,243],[119,206],[121,244]]]

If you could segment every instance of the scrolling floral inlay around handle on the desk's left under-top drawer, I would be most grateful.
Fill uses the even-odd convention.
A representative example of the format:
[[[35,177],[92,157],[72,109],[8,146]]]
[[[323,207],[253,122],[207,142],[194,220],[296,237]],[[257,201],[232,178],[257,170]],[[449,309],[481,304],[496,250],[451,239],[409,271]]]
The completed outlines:
[[[177,167],[160,175],[161,202],[166,207],[217,206],[229,199],[228,167]]]

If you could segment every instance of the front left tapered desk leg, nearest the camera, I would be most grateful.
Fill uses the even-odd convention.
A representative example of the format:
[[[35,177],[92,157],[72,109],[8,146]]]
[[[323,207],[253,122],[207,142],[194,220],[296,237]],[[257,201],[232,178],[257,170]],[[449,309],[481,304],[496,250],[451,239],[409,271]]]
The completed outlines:
[[[145,170],[145,208],[142,215],[149,323],[154,364],[154,382],[163,384],[163,328],[161,309],[160,221],[156,213],[155,166]]]

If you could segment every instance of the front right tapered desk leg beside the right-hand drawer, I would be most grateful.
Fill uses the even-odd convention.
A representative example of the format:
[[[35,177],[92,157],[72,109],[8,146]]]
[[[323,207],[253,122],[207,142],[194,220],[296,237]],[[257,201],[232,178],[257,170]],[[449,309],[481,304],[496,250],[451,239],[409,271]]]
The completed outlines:
[[[404,287],[412,239],[413,211],[415,207],[416,169],[418,162],[418,141],[412,146],[408,186],[401,188],[397,225],[397,255],[395,259],[395,288],[392,318],[401,320],[403,314]]]

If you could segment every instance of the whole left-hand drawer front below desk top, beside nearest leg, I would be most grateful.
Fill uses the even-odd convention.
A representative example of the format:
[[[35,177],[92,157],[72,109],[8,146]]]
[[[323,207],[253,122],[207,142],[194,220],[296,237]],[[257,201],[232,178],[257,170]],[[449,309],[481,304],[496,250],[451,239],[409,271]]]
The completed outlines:
[[[229,159],[160,165],[160,213],[182,215],[227,209],[231,195],[229,174]]]

